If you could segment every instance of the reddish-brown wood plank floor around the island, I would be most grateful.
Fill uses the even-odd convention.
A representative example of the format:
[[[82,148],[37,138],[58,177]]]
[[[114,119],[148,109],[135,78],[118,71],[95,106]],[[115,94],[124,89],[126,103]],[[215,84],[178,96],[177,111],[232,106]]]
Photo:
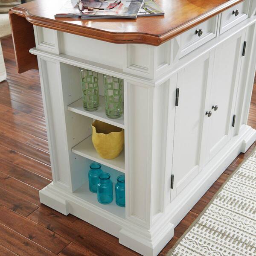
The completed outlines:
[[[7,81],[0,83],[0,255],[132,256],[118,239],[39,202],[52,179],[38,71],[17,74],[10,37],[1,39]],[[256,80],[248,124],[256,128]],[[166,255],[221,184],[250,154],[240,154],[175,228]]]

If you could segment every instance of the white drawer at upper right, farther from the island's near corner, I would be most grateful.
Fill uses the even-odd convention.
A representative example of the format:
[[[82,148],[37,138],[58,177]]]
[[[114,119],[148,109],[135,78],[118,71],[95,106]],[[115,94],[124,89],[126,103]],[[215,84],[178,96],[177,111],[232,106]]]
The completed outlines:
[[[221,13],[220,34],[247,19],[249,4],[250,0],[244,0]]]

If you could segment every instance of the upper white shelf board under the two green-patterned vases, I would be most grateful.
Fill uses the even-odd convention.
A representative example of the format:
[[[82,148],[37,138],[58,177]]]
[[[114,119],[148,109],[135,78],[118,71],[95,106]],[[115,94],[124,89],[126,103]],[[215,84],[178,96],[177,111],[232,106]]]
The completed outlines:
[[[76,102],[73,102],[72,104],[67,106],[67,109],[69,111],[79,113],[83,116],[88,116],[93,119],[97,119],[99,121],[115,125],[117,127],[120,127],[122,129],[125,128],[125,122],[124,122],[124,116],[117,119],[110,119],[105,114],[105,98],[103,96],[99,96],[99,109],[96,111],[86,111],[83,108],[83,99],[79,99]]]

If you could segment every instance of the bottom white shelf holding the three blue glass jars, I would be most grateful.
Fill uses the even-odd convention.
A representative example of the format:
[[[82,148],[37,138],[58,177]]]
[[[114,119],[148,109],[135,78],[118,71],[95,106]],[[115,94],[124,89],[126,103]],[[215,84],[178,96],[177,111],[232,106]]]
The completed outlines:
[[[90,204],[95,205],[105,211],[111,212],[112,214],[125,218],[125,207],[119,207],[116,205],[116,196],[115,196],[115,183],[113,183],[113,201],[110,204],[100,204],[97,200],[97,194],[92,193],[89,190],[88,180],[84,185],[82,185],[79,189],[73,192],[73,195],[82,199]]]

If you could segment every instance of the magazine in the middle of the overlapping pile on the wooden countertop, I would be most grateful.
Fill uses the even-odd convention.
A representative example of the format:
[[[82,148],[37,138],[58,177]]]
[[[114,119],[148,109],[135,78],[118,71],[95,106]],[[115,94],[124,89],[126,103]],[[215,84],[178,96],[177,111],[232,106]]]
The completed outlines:
[[[138,12],[143,5],[144,0],[122,0],[122,2],[113,9],[99,11],[84,11],[86,17],[111,17],[111,18],[131,18],[136,19]]]

